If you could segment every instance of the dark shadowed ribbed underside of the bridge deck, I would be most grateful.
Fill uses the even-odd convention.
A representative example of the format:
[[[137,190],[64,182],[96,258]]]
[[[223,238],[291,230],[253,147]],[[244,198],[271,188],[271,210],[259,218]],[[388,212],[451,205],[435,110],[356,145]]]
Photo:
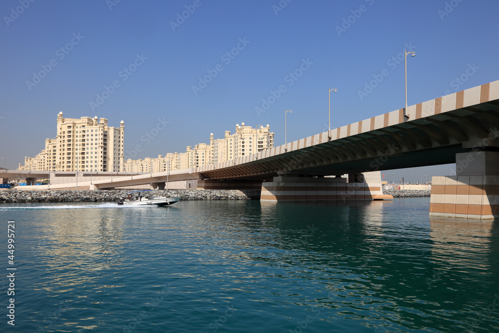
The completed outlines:
[[[342,175],[456,162],[456,154],[498,150],[498,100],[254,160],[203,171],[204,179],[270,180]],[[327,133],[323,133],[327,134]],[[289,146],[289,144],[288,144]]]

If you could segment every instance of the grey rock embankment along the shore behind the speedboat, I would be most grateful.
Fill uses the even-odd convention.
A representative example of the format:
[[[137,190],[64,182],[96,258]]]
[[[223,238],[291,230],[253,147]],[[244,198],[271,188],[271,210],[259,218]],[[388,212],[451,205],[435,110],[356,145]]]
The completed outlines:
[[[136,191],[136,190],[134,190]],[[97,202],[118,201],[128,190],[3,190],[0,203],[22,202]],[[259,190],[156,190],[147,196],[182,197],[182,200],[249,200],[259,199]]]

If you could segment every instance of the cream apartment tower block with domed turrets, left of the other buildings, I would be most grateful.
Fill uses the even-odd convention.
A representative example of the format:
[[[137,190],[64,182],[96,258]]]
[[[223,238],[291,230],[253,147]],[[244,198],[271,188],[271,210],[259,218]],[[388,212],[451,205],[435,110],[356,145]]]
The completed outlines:
[[[45,139],[45,149],[25,157],[18,170],[123,171],[125,123],[110,127],[106,118],[64,118],[57,115],[57,136]]]

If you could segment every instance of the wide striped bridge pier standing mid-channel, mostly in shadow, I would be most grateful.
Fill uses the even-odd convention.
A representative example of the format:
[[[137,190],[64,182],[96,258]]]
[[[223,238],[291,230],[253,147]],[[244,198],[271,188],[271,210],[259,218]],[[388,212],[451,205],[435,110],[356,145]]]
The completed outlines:
[[[379,173],[379,171],[378,171]],[[347,201],[393,199],[383,195],[381,178],[378,182],[365,182],[373,179],[371,173],[356,174],[351,183],[346,178],[278,176],[272,182],[261,184],[260,201]],[[360,176],[359,176],[360,175]]]

